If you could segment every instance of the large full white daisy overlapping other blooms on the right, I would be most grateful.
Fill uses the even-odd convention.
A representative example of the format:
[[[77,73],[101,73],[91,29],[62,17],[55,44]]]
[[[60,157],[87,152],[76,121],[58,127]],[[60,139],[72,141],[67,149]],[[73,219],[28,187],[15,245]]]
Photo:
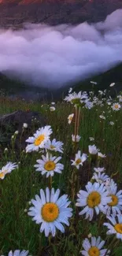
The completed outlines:
[[[76,202],[76,206],[85,206],[84,209],[79,212],[79,215],[86,213],[86,219],[91,221],[94,216],[94,211],[99,214],[106,213],[105,206],[111,202],[111,197],[108,196],[108,191],[105,190],[104,184],[88,182],[86,185],[87,191],[80,190]]]

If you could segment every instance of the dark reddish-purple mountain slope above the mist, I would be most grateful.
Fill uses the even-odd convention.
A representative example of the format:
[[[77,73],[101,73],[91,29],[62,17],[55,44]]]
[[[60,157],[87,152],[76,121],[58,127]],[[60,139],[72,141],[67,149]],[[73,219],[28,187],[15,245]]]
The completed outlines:
[[[0,26],[21,28],[24,22],[98,22],[121,8],[122,0],[0,0]]]

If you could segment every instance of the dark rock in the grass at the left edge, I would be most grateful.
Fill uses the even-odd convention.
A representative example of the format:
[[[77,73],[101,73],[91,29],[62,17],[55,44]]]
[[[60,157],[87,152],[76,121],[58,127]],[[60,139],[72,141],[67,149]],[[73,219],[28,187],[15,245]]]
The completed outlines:
[[[23,131],[24,123],[28,124],[28,128],[24,128]],[[46,118],[38,112],[19,110],[6,115],[0,115],[0,143],[4,143],[4,147],[5,143],[7,143],[7,147],[8,144],[10,146],[11,136],[14,132],[18,131],[18,135],[16,135],[15,148],[17,150],[24,150],[26,147],[25,140],[28,139],[28,136],[31,134],[32,128],[33,132],[35,132],[36,129],[45,125]]]

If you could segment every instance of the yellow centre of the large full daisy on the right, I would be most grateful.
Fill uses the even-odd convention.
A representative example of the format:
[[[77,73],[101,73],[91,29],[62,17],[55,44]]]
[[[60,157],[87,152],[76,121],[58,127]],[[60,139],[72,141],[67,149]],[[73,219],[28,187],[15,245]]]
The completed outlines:
[[[87,205],[90,208],[94,208],[95,206],[98,206],[101,202],[101,195],[97,191],[91,192],[90,195],[87,197]]]

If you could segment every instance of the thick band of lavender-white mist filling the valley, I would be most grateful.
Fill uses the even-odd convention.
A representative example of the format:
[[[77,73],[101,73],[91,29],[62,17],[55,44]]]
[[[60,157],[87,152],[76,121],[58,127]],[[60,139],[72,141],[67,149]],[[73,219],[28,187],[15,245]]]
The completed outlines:
[[[122,61],[122,9],[98,24],[24,24],[0,30],[0,72],[40,87],[62,87]]]

